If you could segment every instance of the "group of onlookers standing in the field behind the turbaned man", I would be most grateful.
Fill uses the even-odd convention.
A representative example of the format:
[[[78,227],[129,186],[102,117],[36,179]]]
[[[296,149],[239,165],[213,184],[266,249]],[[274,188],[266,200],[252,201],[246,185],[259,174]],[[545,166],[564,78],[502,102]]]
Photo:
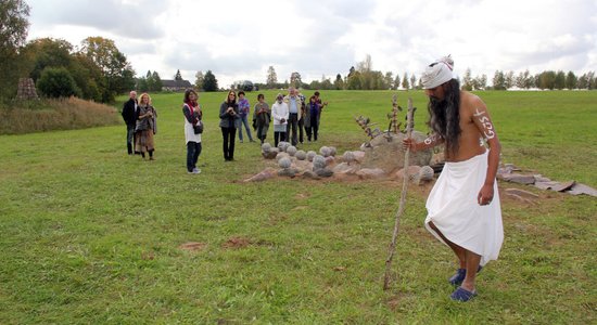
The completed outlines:
[[[274,138],[277,146],[280,141],[288,141],[292,133],[292,144],[303,143],[304,132],[307,140],[317,141],[321,110],[328,104],[319,99],[316,91],[309,102],[305,103],[305,96],[298,93],[295,88],[289,89],[288,95],[279,93],[276,103],[271,108],[265,101],[264,94],[257,95],[257,103],[253,109],[253,123],[255,135],[261,143],[265,142],[271,119],[274,118]],[[201,134],[203,133],[203,112],[198,103],[199,95],[188,89],[185,92],[182,114],[185,116],[185,141],[187,143],[187,171],[200,173],[196,161],[201,155]],[[153,135],[156,131],[156,112],[151,105],[151,98],[148,93],[141,94],[137,101],[137,92],[129,93],[129,100],[123,107],[123,119],[127,125],[127,151],[129,155],[140,154],[145,159],[153,160],[154,142]],[[238,93],[231,90],[219,107],[219,127],[221,129],[224,160],[234,160],[234,142],[237,129],[239,140],[243,142],[243,127],[250,142],[254,142],[249,123],[251,104],[244,91]]]

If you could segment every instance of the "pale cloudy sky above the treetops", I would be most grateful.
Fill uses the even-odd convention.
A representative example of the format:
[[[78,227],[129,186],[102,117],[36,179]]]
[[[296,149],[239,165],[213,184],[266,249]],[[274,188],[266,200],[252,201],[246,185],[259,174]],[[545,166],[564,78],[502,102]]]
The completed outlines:
[[[597,0],[26,0],[29,36],[73,46],[115,41],[138,76],[212,70],[234,80],[332,82],[371,55],[372,68],[420,77],[452,54],[455,73],[597,70]]]

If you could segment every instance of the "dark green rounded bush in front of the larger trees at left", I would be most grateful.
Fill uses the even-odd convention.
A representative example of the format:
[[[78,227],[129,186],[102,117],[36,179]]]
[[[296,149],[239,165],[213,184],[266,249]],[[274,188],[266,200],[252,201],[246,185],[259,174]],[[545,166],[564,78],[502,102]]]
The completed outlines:
[[[65,67],[47,67],[41,72],[36,87],[49,98],[67,98],[78,92],[75,79]]]

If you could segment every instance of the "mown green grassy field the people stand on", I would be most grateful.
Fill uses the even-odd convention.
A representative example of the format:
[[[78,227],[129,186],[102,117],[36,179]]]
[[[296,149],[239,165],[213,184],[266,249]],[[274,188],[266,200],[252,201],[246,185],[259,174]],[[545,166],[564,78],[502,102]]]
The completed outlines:
[[[323,92],[320,142],[303,148],[358,148],[367,139],[353,116],[385,126],[392,94]],[[597,187],[597,92],[479,94],[504,162]],[[425,99],[399,92],[402,106],[409,95],[427,131]],[[126,155],[124,125],[0,136],[0,324],[597,322],[596,198],[499,183],[541,199],[501,195],[500,259],[478,277],[480,296],[456,303],[455,259],[422,226],[430,187],[414,185],[383,291],[402,184],[244,183],[264,160],[237,142],[237,161],[224,164],[224,98],[200,94],[200,176],[185,168],[181,94],[153,96],[155,161]],[[188,242],[203,248],[179,248]]]

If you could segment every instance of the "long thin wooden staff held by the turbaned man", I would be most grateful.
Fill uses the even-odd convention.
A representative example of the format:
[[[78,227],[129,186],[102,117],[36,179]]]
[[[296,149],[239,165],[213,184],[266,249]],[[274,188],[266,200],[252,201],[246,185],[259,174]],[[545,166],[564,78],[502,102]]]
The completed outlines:
[[[406,114],[406,138],[410,138],[412,133],[412,99],[408,99],[408,113]],[[392,234],[392,243],[390,244],[390,253],[385,260],[385,277],[383,278],[383,289],[388,290],[390,287],[390,271],[392,269],[392,260],[394,258],[394,251],[396,250],[396,238],[398,237],[398,227],[401,225],[401,217],[404,212],[406,206],[406,190],[408,188],[408,158],[410,156],[410,147],[406,148],[404,154],[404,181],[402,185],[401,193],[401,205],[398,211],[396,212],[396,221],[394,222],[394,233]]]

